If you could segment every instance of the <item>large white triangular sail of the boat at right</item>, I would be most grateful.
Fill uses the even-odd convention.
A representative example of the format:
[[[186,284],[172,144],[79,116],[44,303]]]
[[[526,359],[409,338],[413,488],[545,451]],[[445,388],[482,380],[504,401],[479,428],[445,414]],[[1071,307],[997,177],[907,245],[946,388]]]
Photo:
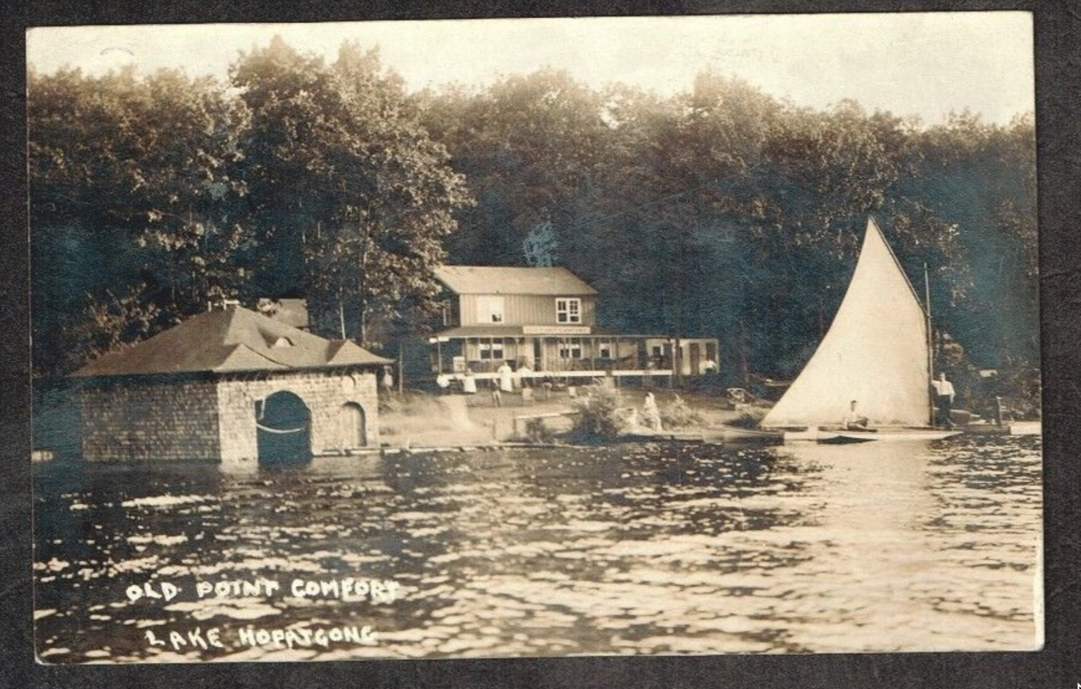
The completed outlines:
[[[762,425],[840,423],[853,400],[873,425],[926,425],[927,366],[923,308],[882,232],[868,220],[829,332]]]

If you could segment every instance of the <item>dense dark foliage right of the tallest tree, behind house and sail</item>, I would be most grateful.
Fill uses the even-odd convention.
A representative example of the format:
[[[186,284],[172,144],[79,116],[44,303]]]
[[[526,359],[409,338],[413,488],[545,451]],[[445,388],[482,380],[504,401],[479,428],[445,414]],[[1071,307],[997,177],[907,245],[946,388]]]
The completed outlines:
[[[558,262],[625,332],[716,335],[722,370],[795,375],[829,326],[873,215],[965,365],[1038,359],[1030,117],[923,126],[843,102],[818,111],[703,72],[671,98],[562,72],[422,94],[479,200],[463,262],[521,264],[550,222]]]

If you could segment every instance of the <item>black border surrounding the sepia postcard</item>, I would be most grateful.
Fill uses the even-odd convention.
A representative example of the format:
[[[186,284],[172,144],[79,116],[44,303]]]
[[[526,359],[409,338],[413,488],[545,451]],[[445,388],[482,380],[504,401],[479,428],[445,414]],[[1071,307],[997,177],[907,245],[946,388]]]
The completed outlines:
[[[1081,3],[1075,0],[9,0],[0,31],[0,686],[1081,687]],[[50,666],[32,651],[25,29],[515,16],[1025,10],[1035,13],[1044,379],[1042,651]]]

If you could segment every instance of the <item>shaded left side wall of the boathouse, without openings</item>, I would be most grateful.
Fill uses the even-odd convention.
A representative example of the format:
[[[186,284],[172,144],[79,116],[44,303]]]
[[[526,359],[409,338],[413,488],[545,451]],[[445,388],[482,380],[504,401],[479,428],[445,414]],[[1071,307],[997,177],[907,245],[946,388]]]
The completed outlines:
[[[212,460],[221,455],[213,381],[122,380],[81,393],[89,461]]]

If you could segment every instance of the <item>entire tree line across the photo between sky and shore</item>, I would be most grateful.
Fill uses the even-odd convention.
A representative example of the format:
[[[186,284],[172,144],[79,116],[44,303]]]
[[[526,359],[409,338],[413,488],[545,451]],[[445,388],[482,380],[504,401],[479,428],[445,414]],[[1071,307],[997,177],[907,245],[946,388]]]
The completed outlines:
[[[1030,113],[926,125],[709,70],[673,96],[552,69],[411,93],[375,50],[275,39],[225,82],[31,71],[28,118],[39,375],[221,298],[303,296],[320,334],[385,349],[431,325],[435,266],[526,265],[540,231],[603,325],[790,377],[869,215],[929,267],[943,365],[1038,365]]]

